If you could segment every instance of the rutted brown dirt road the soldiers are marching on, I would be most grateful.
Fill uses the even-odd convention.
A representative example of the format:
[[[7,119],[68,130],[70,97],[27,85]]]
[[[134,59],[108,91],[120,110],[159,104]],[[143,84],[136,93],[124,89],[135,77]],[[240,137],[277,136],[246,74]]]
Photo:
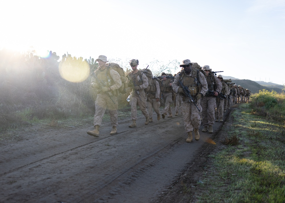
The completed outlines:
[[[112,136],[103,123],[98,138],[86,134],[91,125],[16,130],[22,140],[0,143],[0,202],[159,202],[213,134],[200,127],[187,143],[181,115],[144,121],[121,120]]]

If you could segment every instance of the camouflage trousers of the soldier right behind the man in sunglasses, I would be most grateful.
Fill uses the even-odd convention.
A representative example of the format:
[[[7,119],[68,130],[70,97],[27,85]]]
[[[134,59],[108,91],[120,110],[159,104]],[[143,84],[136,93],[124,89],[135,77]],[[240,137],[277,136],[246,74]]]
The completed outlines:
[[[202,124],[203,126],[214,125],[215,122],[215,108],[216,98],[211,96],[204,96],[201,99],[202,106]]]

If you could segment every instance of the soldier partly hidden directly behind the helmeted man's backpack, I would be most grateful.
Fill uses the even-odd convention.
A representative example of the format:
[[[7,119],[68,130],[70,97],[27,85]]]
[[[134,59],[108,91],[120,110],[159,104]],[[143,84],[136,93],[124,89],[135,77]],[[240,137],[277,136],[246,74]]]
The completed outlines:
[[[141,71],[144,71],[141,70]],[[146,88],[146,107],[149,114],[149,122],[152,122],[152,108],[157,115],[157,120],[160,119],[160,82],[157,79],[152,79],[152,72],[149,69],[146,69],[146,77],[148,79],[148,87]]]

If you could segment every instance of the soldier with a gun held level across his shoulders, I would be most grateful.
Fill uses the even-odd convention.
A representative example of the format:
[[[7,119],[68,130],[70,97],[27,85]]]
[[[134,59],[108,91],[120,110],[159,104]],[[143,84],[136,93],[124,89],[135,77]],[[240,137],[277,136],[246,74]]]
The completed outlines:
[[[172,79],[171,78],[166,78],[165,72],[162,72],[162,86],[160,88],[160,92],[162,93],[162,97],[164,100],[164,111],[162,113],[162,118],[164,119],[165,116],[167,115],[167,112],[169,113],[168,118],[172,117],[172,111],[170,107],[170,103],[172,102]]]

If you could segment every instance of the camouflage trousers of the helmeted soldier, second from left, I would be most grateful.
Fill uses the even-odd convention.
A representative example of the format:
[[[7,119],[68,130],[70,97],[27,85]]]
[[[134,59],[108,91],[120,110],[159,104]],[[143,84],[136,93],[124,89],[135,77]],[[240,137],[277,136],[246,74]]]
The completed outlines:
[[[137,120],[137,103],[141,109],[141,112],[145,117],[148,117],[148,111],[146,109],[146,97],[144,90],[139,91],[140,95],[136,93],[131,94],[130,103],[131,103],[131,117],[133,120]]]

